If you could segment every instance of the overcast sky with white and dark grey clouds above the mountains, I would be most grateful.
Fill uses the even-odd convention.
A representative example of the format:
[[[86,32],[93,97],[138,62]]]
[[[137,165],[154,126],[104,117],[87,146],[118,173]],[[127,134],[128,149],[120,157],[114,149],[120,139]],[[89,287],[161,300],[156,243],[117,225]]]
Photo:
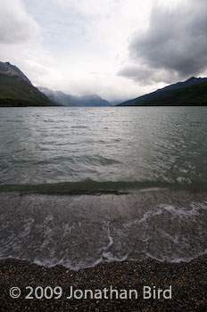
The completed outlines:
[[[0,61],[34,86],[135,98],[207,76],[207,1],[1,1]]]

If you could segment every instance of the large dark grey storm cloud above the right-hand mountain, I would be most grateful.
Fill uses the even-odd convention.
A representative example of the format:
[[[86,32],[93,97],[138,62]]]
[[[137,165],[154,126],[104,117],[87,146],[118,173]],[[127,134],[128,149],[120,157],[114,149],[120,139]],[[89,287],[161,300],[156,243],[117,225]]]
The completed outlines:
[[[144,83],[150,75],[169,82],[201,74],[207,68],[207,1],[189,0],[173,10],[154,6],[149,28],[133,37],[129,54],[137,66],[119,75]]]

